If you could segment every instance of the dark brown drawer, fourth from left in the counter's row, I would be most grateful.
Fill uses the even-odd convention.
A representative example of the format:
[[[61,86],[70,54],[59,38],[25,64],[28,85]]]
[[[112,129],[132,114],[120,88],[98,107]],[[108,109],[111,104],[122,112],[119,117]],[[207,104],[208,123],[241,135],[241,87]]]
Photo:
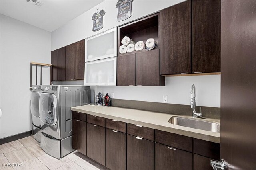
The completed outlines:
[[[148,127],[140,127],[137,125],[127,123],[127,133],[129,135],[134,135],[142,137],[143,139],[154,141],[154,129]]]

